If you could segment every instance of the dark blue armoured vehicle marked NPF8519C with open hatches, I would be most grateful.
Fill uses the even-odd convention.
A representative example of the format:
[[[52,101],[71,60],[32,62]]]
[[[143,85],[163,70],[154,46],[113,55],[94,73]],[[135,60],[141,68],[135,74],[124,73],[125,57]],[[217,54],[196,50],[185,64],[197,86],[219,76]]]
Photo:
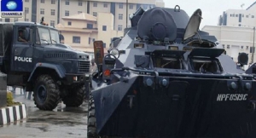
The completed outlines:
[[[93,74],[88,137],[256,137],[253,75],[199,31],[201,9],[138,9]]]

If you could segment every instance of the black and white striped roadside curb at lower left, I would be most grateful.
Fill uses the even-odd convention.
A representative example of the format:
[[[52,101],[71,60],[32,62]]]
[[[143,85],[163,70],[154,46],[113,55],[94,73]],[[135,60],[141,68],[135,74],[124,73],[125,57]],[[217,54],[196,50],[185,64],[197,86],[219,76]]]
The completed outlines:
[[[26,105],[7,106],[0,109],[0,125],[9,124],[27,118]]]

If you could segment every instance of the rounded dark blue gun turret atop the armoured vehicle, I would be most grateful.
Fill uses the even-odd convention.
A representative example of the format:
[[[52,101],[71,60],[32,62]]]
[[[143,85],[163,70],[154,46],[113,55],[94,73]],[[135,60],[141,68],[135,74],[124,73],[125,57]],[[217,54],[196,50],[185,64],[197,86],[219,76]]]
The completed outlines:
[[[141,39],[147,37],[148,41],[173,42],[177,37],[177,26],[172,14],[165,9],[148,9],[137,25],[137,35]]]

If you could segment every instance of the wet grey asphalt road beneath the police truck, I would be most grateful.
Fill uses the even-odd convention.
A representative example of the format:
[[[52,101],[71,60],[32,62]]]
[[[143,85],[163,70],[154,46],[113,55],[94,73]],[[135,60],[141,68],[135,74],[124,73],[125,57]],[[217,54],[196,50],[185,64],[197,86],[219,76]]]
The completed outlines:
[[[0,138],[87,137],[87,104],[68,107],[60,103],[54,111],[40,111],[32,100],[15,95],[15,101],[26,104],[28,118],[0,127]]]

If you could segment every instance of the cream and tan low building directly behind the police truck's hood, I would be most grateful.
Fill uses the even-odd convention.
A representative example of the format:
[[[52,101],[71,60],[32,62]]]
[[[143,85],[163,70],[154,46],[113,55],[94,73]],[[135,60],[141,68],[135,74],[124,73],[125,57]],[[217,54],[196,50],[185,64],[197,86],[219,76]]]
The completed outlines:
[[[102,40],[106,51],[111,38],[124,35],[124,32],[113,30],[114,17],[111,13],[98,13],[97,17],[80,13],[64,16],[61,19],[63,22],[55,27],[64,36],[64,43],[72,46],[73,49],[93,52],[93,42]]]

